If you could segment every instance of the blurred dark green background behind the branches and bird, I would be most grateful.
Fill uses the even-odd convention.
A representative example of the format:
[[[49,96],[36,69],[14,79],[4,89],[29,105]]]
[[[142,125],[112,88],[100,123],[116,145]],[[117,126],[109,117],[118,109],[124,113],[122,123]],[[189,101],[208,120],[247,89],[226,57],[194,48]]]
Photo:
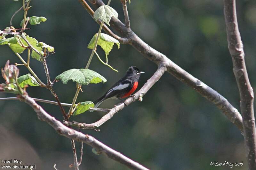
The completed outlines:
[[[104,1],[107,3],[107,1]],[[9,26],[12,14],[21,7],[21,1],[1,0],[0,29]],[[55,48],[55,54],[47,58],[52,80],[65,70],[84,68],[91,50],[87,48],[99,25],[84,10],[78,1],[31,2],[29,16],[44,16],[47,21],[30,26],[26,33],[38,41]],[[110,4],[124,21],[119,0]],[[95,8],[93,8],[95,10]],[[239,92],[232,71],[228,52],[223,1],[220,0],[132,0],[128,4],[131,28],[151,47],[167,55],[173,62],[196,78],[202,80],[239,110]],[[256,2],[237,1],[239,29],[244,42],[247,71],[252,87],[256,85],[255,72]],[[20,28],[23,13],[13,19],[15,28]],[[97,51],[104,56],[99,47]],[[22,54],[26,59],[26,53]],[[0,66],[8,59],[20,63],[7,46],[0,47]],[[146,74],[141,76],[141,87],[156,70],[156,65],[140,55],[130,45],[116,45],[109,54],[109,64],[119,72],[101,64],[94,56],[90,69],[105,78],[105,84],[83,86],[78,102],[94,101],[100,97],[131,65],[136,65]],[[31,67],[46,83],[44,68],[31,59]],[[19,66],[20,75],[28,73]],[[1,83],[4,82],[0,78]],[[60,101],[71,103],[76,85],[70,81],[54,84]],[[46,100],[54,100],[49,90],[28,87],[28,94]],[[0,97],[14,97],[0,93]],[[118,101],[107,101],[102,108],[111,108]],[[39,103],[49,114],[62,121],[58,106]],[[51,126],[37,119],[36,113],[23,102],[8,100],[0,102],[0,158],[21,159],[36,169],[69,169],[73,163],[70,140],[58,135]],[[66,108],[68,110],[68,108]],[[86,112],[71,120],[92,123],[102,113]],[[165,73],[144,96],[143,102],[134,102],[125,107],[100,127],[100,132],[83,130],[104,144],[140,162],[151,169],[218,170],[227,166],[210,166],[211,162],[244,162],[232,169],[247,169],[243,136],[240,131],[213,104],[172,75]],[[76,143],[79,152],[80,143]],[[78,154],[79,155],[79,154]],[[125,166],[95,155],[92,148],[84,145],[80,169],[127,169]]]

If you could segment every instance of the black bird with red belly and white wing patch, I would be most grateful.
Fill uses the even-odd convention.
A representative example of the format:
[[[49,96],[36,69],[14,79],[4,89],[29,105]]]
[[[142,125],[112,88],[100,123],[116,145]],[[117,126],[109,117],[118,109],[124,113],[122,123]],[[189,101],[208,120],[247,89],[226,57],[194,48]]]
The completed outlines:
[[[123,100],[129,97],[137,89],[141,73],[145,72],[140,71],[136,66],[129,67],[123,78],[117,81],[103,96],[93,102],[94,108],[99,107],[103,101],[108,99],[117,98]]]

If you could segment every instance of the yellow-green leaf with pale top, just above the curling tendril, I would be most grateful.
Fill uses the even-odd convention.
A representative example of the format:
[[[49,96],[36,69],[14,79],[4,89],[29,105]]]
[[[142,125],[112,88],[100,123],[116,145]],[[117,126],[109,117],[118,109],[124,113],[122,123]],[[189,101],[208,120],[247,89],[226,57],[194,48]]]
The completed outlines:
[[[89,42],[88,47],[90,49],[94,48],[94,44],[96,41],[98,33],[96,33],[93,37],[92,40]],[[115,38],[109,36],[108,34],[105,33],[100,33],[99,41],[97,45],[100,45],[100,47],[105,51],[105,53],[108,55],[109,52],[112,50],[113,45],[116,43],[117,48],[120,48],[120,43],[118,40]]]

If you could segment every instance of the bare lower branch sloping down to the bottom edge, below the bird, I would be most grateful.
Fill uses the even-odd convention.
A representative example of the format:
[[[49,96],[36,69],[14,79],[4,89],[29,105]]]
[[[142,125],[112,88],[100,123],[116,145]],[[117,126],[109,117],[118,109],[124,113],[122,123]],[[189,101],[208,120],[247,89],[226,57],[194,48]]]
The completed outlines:
[[[30,98],[27,94],[20,96],[20,99],[25,101],[28,105],[30,105],[34,111],[37,113],[38,119],[47,122],[51,125],[60,135],[68,137],[70,139],[74,139],[75,141],[84,142],[96,149],[98,153],[103,153],[107,155],[109,158],[120,162],[121,164],[131,168],[138,170],[148,170],[146,167],[140,165],[139,163],[133,161],[125,157],[120,152],[116,152],[105,144],[101,143],[94,137],[90,135],[84,135],[81,132],[78,132],[74,129],[70,129],[67,126],[63,125],[60,121],[56,120],[54,117],[49,115],[44,111],[44,109],[39,106],[35,100]]]

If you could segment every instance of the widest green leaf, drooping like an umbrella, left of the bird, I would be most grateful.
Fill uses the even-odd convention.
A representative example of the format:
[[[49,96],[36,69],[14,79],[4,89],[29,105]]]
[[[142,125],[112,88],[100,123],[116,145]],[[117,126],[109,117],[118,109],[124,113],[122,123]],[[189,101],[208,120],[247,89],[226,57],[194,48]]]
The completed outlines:
[[[89,70],[89,69],[71,69],[64,71],[59,76],[55,78],[56,80],[61,80],[63,84],[67,84],[69,80],[82,85],[88,85],[89,83],[105,83],[107,80],[99,73]]]

